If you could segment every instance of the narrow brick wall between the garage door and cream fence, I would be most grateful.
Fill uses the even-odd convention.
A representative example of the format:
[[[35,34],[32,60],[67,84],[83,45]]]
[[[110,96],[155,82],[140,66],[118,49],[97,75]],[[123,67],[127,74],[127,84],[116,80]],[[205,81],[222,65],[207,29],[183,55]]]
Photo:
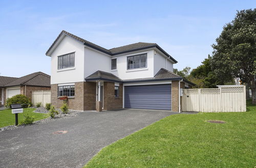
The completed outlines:
[[[180,88],[185,88],[185,83],[180,82]],[[182,97],[180,97],[180,106]],[[172,81],[172,111],[179,111],[179,81],[173,80]]]

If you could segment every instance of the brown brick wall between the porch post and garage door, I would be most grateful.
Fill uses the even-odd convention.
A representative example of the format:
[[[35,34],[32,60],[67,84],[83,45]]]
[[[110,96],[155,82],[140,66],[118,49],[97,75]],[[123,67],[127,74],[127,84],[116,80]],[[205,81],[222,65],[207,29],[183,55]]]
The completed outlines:
[[[104,99],[103,99],[103,109],[112,110],[120,109],[123,107],[123,85],[120,83],[119,86],[119,97],[115,98],[115,83],[114,82],[104,82]]]

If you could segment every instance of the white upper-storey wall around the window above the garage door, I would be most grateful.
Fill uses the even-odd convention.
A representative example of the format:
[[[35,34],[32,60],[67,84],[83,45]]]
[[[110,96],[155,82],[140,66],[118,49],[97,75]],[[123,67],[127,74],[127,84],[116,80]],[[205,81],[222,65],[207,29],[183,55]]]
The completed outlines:
[[[127,57],[137,54],[147,53],[147,67],[127,70]],[[111,73],[121,79],[136,79],[154,76],[154,50],[143,50],[115,55],[112,59],[117,59],[117,70],[111,70]]]

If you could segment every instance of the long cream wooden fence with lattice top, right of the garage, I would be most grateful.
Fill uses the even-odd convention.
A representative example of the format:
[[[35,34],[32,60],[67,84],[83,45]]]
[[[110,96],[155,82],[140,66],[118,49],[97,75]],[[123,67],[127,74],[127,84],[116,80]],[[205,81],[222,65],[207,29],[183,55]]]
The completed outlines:
[[[182,111],[246,111],[245,86],[228,86],[218,89],[184,89]]]

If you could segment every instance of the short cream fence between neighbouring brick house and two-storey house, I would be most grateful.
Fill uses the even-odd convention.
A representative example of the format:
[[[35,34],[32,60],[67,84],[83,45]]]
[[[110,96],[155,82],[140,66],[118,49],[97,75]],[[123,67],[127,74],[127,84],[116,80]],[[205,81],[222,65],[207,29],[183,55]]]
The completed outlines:
[[[51,103],[51,91],[33,91],[32,92],[32,104],[41,102],[42,106],[45,106],[46,103]]]

